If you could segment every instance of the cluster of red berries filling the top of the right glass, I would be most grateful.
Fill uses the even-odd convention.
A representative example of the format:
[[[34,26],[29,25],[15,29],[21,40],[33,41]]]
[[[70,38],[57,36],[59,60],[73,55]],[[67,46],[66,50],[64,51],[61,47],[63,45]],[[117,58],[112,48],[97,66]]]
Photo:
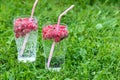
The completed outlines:
[[[62,39],[68,36],[68,31],[66,26],[59,25],[56,28],[55,25],[47,25],[42,29],[42,37],[43,39],[53,39],[55,42],[60,42]]]

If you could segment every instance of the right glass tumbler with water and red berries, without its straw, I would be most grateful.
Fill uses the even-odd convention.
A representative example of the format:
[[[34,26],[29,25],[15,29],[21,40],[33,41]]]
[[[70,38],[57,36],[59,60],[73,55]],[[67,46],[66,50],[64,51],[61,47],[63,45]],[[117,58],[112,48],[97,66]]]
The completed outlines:
[[[56,43],[51,58],[49,69],[60,70],[63,63],[65,62],[65,53],[66,53],[66,41],[64,40],[68,37],[68,30],[66,25],[59,25],[57,29],[57,24],[53,25],[44,25],[42,29],[42,38],[44,42],[44,53],[45,53],[45,62],[46,68],[49,58],[49,53],[51,50],[51,45],[53,41]]]

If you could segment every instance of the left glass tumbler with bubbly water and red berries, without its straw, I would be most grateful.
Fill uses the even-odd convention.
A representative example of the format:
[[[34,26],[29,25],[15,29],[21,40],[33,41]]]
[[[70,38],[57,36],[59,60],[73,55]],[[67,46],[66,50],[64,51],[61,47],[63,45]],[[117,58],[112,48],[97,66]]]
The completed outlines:
[[[14,20],[14,34],[18,50],[19,61],[35,61],[36,59],[36,46],[37,46],[37,34],[38,25],[35,18],[16,18]],[[28,41],[26,43],[23,54],[21,55],[21,48],[25,36],[29,34]]]

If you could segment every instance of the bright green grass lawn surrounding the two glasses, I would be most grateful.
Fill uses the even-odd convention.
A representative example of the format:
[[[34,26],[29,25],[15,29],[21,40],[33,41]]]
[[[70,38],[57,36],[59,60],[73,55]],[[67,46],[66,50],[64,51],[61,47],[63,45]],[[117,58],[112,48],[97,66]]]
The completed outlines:
[[[39,0],[35,9],[39,37],[37,60],[19,63],[13,19],[30,15],[34,0],[0,0],[0,80],[120,80],[119,0]],[[62,23],[68,25],[66,63],[60,72],[44,69],[41,29],[57,22],[71,4]]]

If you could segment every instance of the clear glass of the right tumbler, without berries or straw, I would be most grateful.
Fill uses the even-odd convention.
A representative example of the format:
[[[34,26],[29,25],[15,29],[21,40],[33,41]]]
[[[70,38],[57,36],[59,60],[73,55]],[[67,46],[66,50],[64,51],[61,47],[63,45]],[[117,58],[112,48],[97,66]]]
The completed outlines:
[[[43,28],[47,25],[52,24],[46,24],[43,26]],[[65,24],[61,25],[64,25],[67,28],[67,25]],[[50,57],[50,51],[53,44],[54,50],[48,67],[48,58]],[[54,42],[53,39],[43,39],[43,48],[45,56],[45,68],[49,70],[59,71],[63,67],[63,64],[65,63],[65,54],[67,51],[66,38],[61,40],[60,42]]]

